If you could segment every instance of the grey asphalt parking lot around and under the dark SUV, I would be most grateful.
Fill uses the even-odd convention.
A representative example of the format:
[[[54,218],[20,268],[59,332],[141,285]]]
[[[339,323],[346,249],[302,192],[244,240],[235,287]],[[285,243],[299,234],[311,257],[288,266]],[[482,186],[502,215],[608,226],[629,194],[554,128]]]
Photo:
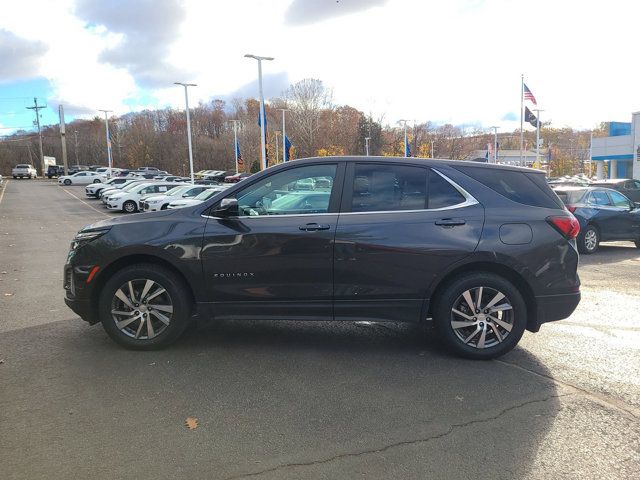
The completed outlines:
[[[63,301],[83,187],[0,190],[0,476],[630,479],[640,471],[640,250],[581,258],[583,301],[500,360],[414,325],[224,322],[159,352]],[[198,426],[185,426],[188,418]]]

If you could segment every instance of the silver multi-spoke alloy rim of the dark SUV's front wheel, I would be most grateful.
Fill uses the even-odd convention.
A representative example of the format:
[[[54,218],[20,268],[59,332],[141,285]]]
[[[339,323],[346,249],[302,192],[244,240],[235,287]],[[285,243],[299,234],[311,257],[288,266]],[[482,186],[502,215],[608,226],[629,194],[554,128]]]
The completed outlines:
[[[130,280],[116,290],[111,301],[111,317],[125,335],[150,340],[161,335],[171,323],[173,302],[158,282]]]

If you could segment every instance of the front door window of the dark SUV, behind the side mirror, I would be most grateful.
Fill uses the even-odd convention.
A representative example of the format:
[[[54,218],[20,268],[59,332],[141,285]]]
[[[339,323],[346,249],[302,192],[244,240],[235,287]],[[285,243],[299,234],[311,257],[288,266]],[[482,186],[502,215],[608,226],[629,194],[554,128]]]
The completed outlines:
[[[327,213],[336,164],[290,168],[236,194],[240,216]]]

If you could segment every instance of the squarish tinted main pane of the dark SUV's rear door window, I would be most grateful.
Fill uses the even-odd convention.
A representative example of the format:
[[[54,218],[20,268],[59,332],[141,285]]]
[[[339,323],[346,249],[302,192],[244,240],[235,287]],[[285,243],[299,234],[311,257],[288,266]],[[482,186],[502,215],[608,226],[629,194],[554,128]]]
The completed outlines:
[[[355,166],[352,212],[421,210],[426,206],[426,168],[373,163]]]

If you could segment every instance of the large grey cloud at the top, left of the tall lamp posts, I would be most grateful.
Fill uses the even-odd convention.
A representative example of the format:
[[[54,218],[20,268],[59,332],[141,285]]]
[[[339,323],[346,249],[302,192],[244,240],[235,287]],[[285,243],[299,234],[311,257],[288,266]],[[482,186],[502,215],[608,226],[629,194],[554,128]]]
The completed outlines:
[[[99,60],[125,68],[139,85],[155,88],[189,77],[166,60],[186,17],[180,0],[80,0],[76,15],[122,35]]]

